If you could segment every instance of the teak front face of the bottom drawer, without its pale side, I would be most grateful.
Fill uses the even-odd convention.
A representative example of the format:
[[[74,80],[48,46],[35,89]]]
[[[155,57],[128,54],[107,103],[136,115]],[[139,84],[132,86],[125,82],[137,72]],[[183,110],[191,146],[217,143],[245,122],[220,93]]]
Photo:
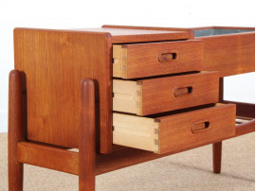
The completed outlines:
[[[196,147],[235,135],[235,112],[235,105],[228,104],[158,118],[160,120],[159,153]],[[209,128],[192,133],[193,124],[204,122],[210,123]]]

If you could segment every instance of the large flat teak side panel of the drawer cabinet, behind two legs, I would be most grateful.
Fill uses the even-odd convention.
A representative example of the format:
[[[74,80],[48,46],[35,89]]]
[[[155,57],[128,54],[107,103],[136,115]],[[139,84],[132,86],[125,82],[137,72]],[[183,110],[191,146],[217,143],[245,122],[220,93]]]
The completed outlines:
[[[98,99],[97,137],[101,152],[111,151],[110,51],[108,33],[14,30],[15,69],[24,72],[27,81],[28,140],[78,148],[81,80],[93,78]]]

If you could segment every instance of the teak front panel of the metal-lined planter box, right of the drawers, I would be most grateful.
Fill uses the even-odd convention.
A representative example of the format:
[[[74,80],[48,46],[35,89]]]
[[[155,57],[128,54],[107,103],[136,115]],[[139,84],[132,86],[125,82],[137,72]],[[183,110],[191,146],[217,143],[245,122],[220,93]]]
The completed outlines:
[[[203,70],[219,71],[220,78],[255,71],[255,33],[198,37],[204,40]]]

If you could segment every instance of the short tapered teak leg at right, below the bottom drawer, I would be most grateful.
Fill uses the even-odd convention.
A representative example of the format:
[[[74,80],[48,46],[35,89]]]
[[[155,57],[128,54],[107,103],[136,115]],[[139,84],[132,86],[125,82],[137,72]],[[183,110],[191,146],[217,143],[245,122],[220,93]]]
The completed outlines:
[[[222,142],[212,144],[213,172],[221,172]]]

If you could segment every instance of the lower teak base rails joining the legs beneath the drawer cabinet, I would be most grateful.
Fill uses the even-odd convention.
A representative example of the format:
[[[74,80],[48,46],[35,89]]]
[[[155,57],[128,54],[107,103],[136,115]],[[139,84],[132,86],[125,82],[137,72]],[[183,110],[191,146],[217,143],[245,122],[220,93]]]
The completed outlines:
[[[255,120],[251,119],[248,122],[238,124],[236,126],[235,135],[232,137],[243,135],[254,130]],[[228,137],[226,139],[232,137]],[[218,140],[215,142],[220,142],[223,140]],[[109,171],[117,170],[122,167],[137,165],[188,149],[202,147],[208,144],[177,149],[165,154],[155,154],[154,152],[137,148],[114,146],[115,150],[110,154],[97,154],[95,174],[99,175]],[[63,148],[54,148],[39,143],[35,144],[31,142],[20,142],[18,144],[18,161],[24,164],[42,166],[49,169],[78,175],[79,152],[66,150]]]

